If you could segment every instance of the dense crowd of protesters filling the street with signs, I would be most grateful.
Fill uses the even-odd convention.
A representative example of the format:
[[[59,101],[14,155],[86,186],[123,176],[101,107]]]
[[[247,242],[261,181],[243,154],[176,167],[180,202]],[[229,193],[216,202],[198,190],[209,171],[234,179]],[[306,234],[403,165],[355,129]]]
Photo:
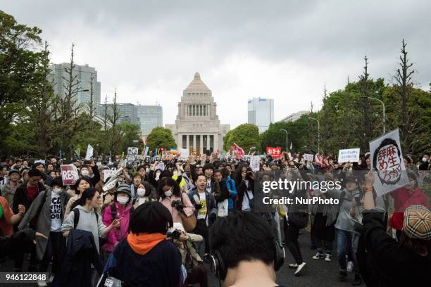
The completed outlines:
[[[237,280],[235,272],[267,266],[273,271],[262,273],[268,281],[261,286],[277,286],[274,269],[280,268],[282,246],[292,254],[288,267],[294,276],[307,274],[307,260],[331,261],[336,248],[339,273],[334,276],[340,281],[351,272],[354,286],[420,282],[430,279],[426,271],[431,269],[431,213],[420,187],[430,181],[430,162],[429,154],[416,163],[406,156],[409,183],[377,196],[368,173],[369,153],[358,162],[338,164],[333,154],[319,153],[306,161],[301,153],[283,152],[280,159],[261,158],[259,172],[251,170],[247,157],[214,153],[146,158],[130,165],[102,158],[74,160],[79,179],[68,186],[60,165],[70,162],[7,158],[0,166],[0,257],[13,260],[13,272],[49,272],[39,286],[96,286],[99,278],[127,286],[208,286],[206,263],[217,267],[220,260],[223,274],[220,268],[216,274],[226,286]],[[104,173],[120,166],[115,184],[107,188],[112,179]],[[339,203],[277,205],[275,211],[260,212],[256,190],[263,181],[280,178],[341,181],[342,189],[296,189],[288,195],[336,198]],[[388,212],[392,201],[394,210]],[[245,228],[250,220],[257,222],[256,234]],[[312,258],[302,256],[298,241],[301,229],[308,227],[316,249]],[[266,234],[259,235],[262,231]],[[223,233],[231,238],[223,239]],[[275,255],[266,257],[256,249],[260,242],[250,243],[259,236],[275,242]],[[229,251],[234,243],[238,250]],[[214,248],[220,250],[217,255]],[[235,258],[234,253],[241,255]],[[253,258],[262,264],[239,264]],[[235,286],[247,286],[243,284]]]

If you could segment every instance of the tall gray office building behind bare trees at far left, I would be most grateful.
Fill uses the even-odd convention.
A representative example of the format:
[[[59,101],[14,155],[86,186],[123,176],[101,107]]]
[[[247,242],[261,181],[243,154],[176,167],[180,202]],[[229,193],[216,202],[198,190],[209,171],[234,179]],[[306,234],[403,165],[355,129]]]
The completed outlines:
[[[65,69],[69,68],[69,63],[61,63],[61,64],[51,64],[50,69],[51,72],[48,75],[48,79],[53,83],[54,94],[58,96],[65,96],[69,75]],[[97,71],[93,67],[89,67],[88,64],[85,65],[75,65],[75,68],[72,71],[72,75],[74,77],[73,84],[76,84],[73,89],[79,89],[77,92],[75,99],[76,104],[83,106],[84,108],[88,108],[88,103],[91,101],[91,86],[93,86],[93,106],[97,110],[97,107],[100,105],[100,82],[97,81]],[[93,75],[93,80],[91,79]],[[93,83],[91,85],[90,83]],[[86,90],[86,91],[83,91]]]

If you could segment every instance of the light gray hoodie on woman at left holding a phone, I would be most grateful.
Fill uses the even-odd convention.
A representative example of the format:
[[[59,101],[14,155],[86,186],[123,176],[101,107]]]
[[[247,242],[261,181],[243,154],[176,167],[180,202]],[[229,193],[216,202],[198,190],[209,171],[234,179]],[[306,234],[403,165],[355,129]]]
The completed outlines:
[[[99,215],[99,218],[96,219],[94,209],[88,211],[82,205],[77,205],[76,208],[80,210],[80,221],[78,222],[76,229],[92,232],[94,236],[94,242],[96,243],[97,251],[99,252],[99,237],[104,237],[102,236],[102,231],[106,229],[104,222],[102,222],[101,215]],[[62,232],[73,229],[74,218],[75,212],[70,212],[68,217],[61,225]]]

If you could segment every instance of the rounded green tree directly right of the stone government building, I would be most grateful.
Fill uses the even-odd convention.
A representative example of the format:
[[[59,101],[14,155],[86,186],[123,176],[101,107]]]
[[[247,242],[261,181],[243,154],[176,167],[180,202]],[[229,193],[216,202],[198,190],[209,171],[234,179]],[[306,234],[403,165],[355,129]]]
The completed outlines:
[[[253,124],[243,124],[235,127],[229,131],[228,136],[225,136],[225,145],[227,148],[237,143],[244,149],[245,153],[248,153],[252,146],[258,148],[261,146],[259,143],[259,129]]]

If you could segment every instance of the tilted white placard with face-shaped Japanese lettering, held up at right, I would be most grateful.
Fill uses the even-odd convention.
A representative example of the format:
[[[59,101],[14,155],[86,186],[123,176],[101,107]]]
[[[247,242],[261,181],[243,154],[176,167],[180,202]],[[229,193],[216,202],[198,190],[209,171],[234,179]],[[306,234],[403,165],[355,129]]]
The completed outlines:
[[[399,129],[370,141],[370,160],[375,172],[374,189],[377,196],[408,184],[403,153],[399,142]]]

